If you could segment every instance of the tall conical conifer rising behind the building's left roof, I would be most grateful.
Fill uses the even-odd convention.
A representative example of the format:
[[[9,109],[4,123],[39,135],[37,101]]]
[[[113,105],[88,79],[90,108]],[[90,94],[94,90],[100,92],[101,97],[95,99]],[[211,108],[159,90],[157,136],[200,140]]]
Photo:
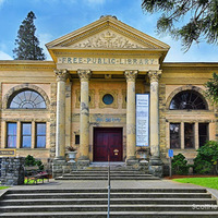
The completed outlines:
[[[15,39],[14,59],[15,60],[45,60],[43,48],[39,47],[39,40],[35,36],[36,27],[34,20],[36,19],[33,11],[22,22]]]

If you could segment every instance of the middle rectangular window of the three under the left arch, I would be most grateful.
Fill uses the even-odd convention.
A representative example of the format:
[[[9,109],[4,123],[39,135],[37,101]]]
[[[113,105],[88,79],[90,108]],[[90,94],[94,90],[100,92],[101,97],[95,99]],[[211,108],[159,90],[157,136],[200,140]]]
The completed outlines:
[[[21,147],[31,148],[32,145],[32,123],[22,123]]]

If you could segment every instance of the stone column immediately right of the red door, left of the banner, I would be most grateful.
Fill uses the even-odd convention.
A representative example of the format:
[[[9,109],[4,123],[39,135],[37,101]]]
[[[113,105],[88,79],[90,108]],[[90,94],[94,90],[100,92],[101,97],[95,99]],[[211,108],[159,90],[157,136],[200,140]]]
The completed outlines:
[[[136,162],[135,148],[135,78],[137,71],[124,72],[128,90],[126,90],[126,164]]]

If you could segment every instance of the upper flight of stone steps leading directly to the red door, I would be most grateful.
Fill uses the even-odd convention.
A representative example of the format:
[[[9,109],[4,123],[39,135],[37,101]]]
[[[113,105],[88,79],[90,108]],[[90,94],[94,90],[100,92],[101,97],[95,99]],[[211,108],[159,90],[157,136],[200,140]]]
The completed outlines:
[[[148,169],[138,170],[126,168],[124,164],[110,164],[111,180],[159,180],[148,174]],[[83,170],[72,171],[56,178],[56,180],[108,180],[108,164],[92,164]]]

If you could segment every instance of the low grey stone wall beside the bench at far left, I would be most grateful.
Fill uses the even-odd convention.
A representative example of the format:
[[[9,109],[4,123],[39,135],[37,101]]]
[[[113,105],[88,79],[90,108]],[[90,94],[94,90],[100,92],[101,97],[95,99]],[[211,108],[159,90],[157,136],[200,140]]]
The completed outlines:
[[[24,160],[23,157],[1,158],[1,184],[21,185],[24,184]]]

